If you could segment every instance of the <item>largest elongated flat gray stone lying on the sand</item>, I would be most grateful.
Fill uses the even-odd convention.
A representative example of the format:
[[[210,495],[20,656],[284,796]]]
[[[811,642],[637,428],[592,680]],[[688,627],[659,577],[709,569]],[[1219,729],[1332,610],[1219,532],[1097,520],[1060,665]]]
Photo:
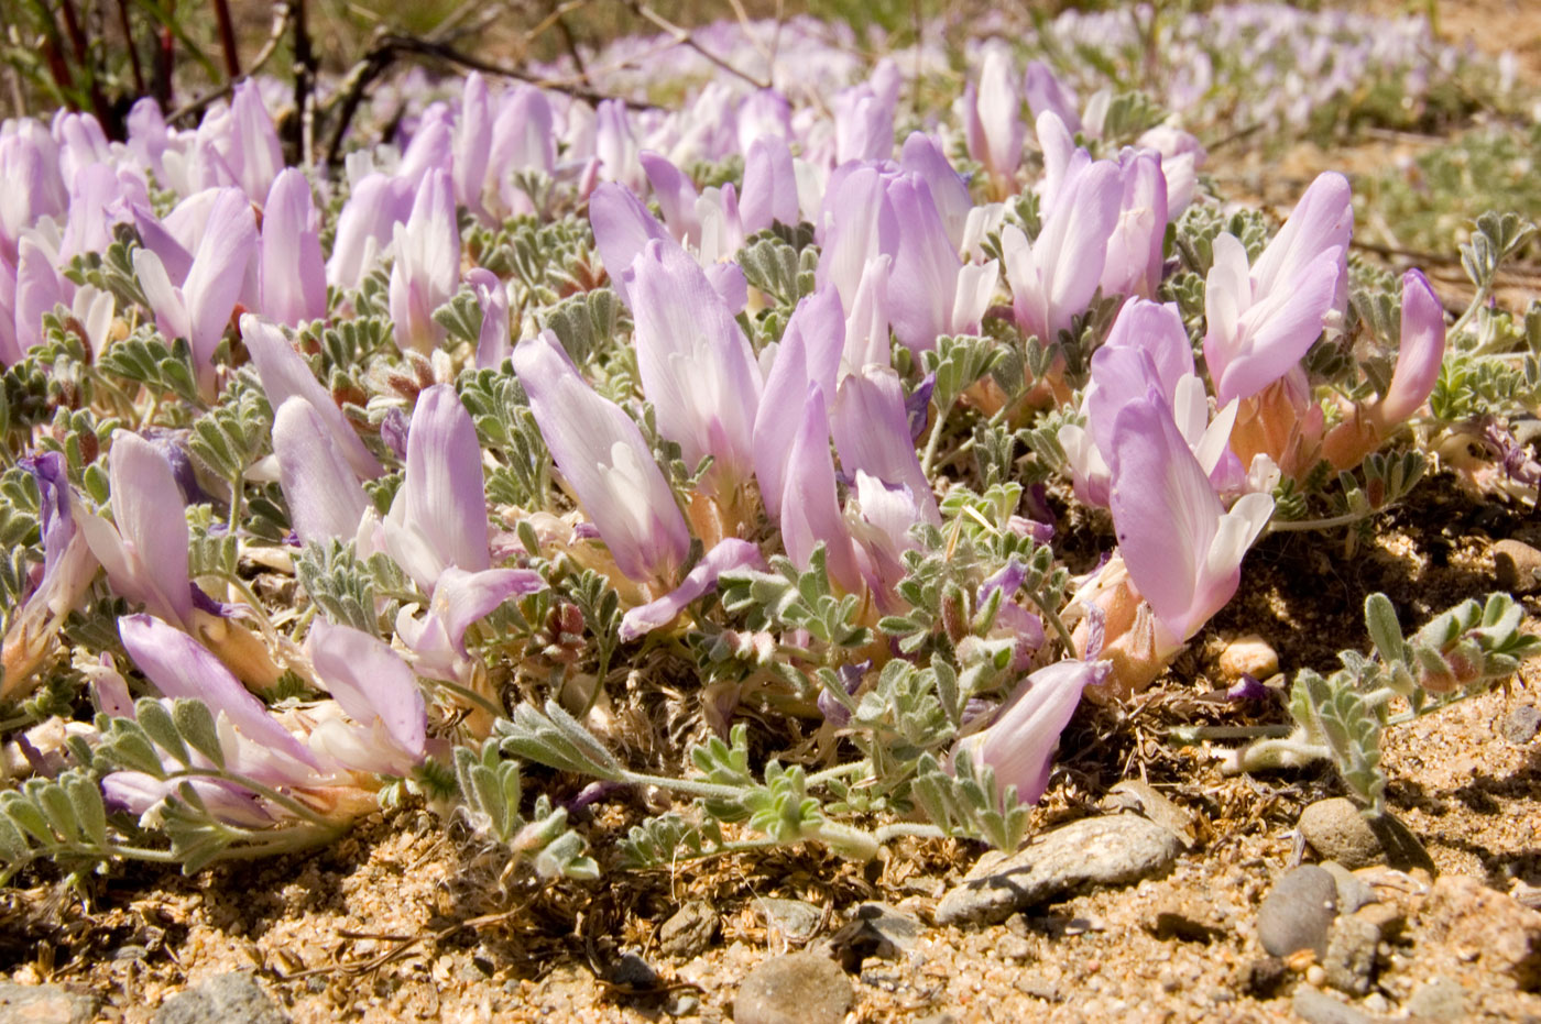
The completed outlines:
[[[1009,858],[975,865],[937,904],[937,924],[999,924],[1083,888],[1126,885],[1165,873],[1180,850],[1171,830],[1137,815],[1076,821],[1034,836]]]

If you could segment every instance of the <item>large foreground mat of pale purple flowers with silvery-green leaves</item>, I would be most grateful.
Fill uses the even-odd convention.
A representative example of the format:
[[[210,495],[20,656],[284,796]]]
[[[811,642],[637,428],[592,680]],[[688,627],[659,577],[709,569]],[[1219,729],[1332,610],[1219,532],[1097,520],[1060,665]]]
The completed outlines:
[[[971,52],[922,125],[925,60],[780,63],[840,88],[713,79],[667,112],[472,74],[336,180],[285,166],[253,82],[196,128],[142,100],[123,142],[6,122],[3,696],[76,681],[99,711],[18,738],[32,770],[202,859],[458,788],[587,870],[549,805],[513,839],[502,755],[852,855],[875,839],[838,810],[1019,839],[1082,696],[1150,685],[1259,536],[1313,525],[1325,470],[1365,467],[1328,525],[1412,487],[1382,448],[1432,430],[1447,325],[1418,271],[1350,265],[1342,176],[1270,231],[1148,97],[1128,120],[1128,95],[1082,106],[1046,63]],[[1322,359],[1356,343],[1395,368]],[[1068,500],[1113,525],[1080,577]],[[653,671],[718,733],[698,778],[601,739]],[[757,779],[747,710],[826,767]],[[5,821],[11,862],[126,848]],[[735,848],[686,825],[633,858]]]

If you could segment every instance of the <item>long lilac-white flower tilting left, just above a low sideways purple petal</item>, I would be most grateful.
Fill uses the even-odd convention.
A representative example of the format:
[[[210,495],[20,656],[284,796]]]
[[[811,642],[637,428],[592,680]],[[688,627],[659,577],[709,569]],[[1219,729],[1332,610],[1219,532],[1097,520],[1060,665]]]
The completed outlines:
[[[640,582],[673,585],[690,531],[643,431],[584,382],[550,331],[515,345],[513,368],[556,468],[616,568]]]

